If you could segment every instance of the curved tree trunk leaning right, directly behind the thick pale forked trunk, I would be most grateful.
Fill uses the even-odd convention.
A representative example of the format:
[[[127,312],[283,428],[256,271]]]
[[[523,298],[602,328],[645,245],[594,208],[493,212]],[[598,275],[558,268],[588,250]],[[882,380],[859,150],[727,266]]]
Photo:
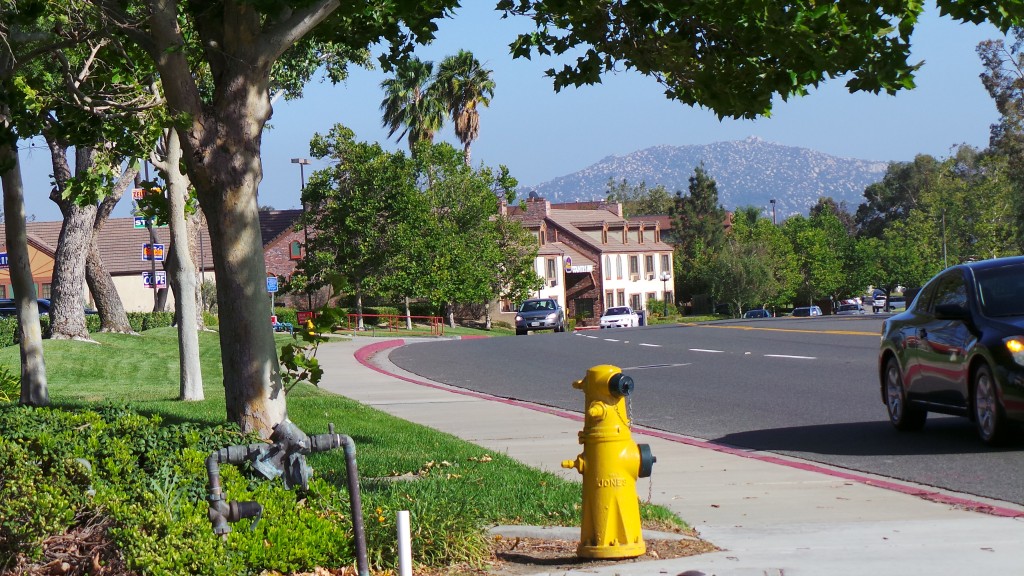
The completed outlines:
[[[118,294],[117,286],[111,273],[106,272],[102,259],[99,257],[98,238],[102,232],[103,224],[110,217],[114,207],[117,206],[124,195],[124,191],[132,184],[135,175],[138,174],[137,167],[129,167],[115,184],[114,191],[103,198],[96,209],[96,219],[92,224],[92,238],[89,240],[89,253],[85,256],[85,282],[89,286],[89,292],[96,302],[96,310],[99,312],[99,331],[118,332],[122,334],[132,334],[131,323],[128,322],[128,313],[125,312],[124,302]]]

